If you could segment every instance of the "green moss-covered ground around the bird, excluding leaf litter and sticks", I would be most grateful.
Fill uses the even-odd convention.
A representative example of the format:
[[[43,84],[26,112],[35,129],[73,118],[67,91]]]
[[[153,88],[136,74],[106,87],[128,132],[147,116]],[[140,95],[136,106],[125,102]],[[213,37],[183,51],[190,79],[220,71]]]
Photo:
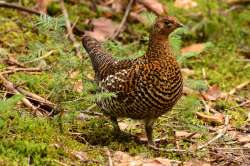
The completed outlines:
[[[250,80],[247,59],[250,54],[250,6],[233,9],[222,1],[197,0],[197,7],[184,10],[176,8],[173,1],[161,2],[167,6],[169,15],[176,16],[186,25],[186,30],[180,32],[181,39],[173,39],[174,46],[207,42],[210,45],[199,55],[182,61],[182,68],[193,71],[186,79],[193,91],[184,95],[173,111],[155,124],[155,138],[168,136],[167,142],[159,145],[161,148],[176,148],[178,142],[181,149],[189,149],[211,139],[215,131],[210,129],[217,129],[196,116],[197,111],[204,111],[199,92],[217,85],[220,92],[228,93]],[[34,5],[29,0],[20,3],[26,7]],[[67,1],[66,7],[71,21],[78,20],[76,25],[80,29],[89,28],[86,19],[100,17],[105,12],[100,9],[96,13],[84,2],[74,4]],[[194,153],[155,151],[130,136],[117,138],[111,122],[105,117],[81,114],[79,118],[80,112],[91,106],[96,98],[96,87],[90,81],[94,73],[89,59],[81,61],[75,56],[57,2],[49,6],[49,13],[53,17],[0,8],[0,71],[8,69],[5,60],[10,56],[27,67],[46,69],[33,73],[15,72],[6,77],[17,87],[38,94],[66,110],[51,117],[35,117],[20,101],[22,96],[8,93],[0,81],[0,165],[105,165],[108,162],[107,149],[111,153],[123,151],[130,155],[179,161],[208,158],[209,148]],[[145,15],[152,17],[150,13]],[[112,19],[119,22],[122,14]],[[118,58],[143,55],[149,28],[142,23],[128,22],[127,29],[120,40],[105,42],[106,48]],[[52,53],[45,56],[50,51]],[[83,48],[81,52],[86,54]],[[200,82],[205,82],[205,85]],[[208,102],[217,112],[230,115],[233,130],[242,131],[245,126],[249,127],[250,107],[239,104],[247,100],[250,100],[250,85],[229,98]],[[92,111],[99,110],[94,108]],[[125,119],[121,122],[124,124],[128,125],[124,129],[127,133],[139,137],[144,133],[143,125],[136,121]],[[179,139],[175,131],[197,132],[200,137]],[[228,140],[232,138],[222,137],[212,146],[228,146],[225,144]],[[79,153],[83,159],[77,155]]]

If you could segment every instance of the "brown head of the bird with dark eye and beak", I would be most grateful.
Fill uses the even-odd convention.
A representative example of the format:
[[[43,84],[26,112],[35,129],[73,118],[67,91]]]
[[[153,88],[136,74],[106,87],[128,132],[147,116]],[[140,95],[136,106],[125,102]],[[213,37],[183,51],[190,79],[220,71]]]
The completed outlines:
[[[155,21],[152,33],[154,35],[168,36],[175,29],[180,27],[183,27],[183,25],[175,17],[159,17]]]

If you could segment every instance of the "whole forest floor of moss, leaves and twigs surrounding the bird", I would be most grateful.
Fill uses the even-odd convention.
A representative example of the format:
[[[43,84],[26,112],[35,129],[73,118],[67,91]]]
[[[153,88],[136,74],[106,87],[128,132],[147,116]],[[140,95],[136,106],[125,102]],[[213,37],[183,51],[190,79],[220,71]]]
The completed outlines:
[[[142,141],[140,121],[119,120],[127,134],[116,137],[95,107],[95,99],[112,94],[96,91],[81,35],[65,29],[62,3],[49,5],[50,16],[0,4],[0,165],[250,165],[250,5],[138,1],[120,33],[107,40],[121,23],[125,2],[64,5],[71,23],[118,59],[145,53],[150,26],[163,8],[185,25],[170,39],[184,95],[155,124],[159,149]],[[26,8],[34,3],[19,1]]]

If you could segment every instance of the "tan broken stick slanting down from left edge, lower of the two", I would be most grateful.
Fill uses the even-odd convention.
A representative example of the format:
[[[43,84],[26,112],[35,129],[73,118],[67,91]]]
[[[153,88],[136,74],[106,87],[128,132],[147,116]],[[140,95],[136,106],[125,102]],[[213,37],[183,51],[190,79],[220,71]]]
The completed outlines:
[[[3,85],[10,91],[13,91],[15,94],[21,94],[14,86],[14,84],[8,81],[2,74],[0,74],[0,80],[3,82]],[[22,102],[32,110],[32,113],[38,116],[42,116],[42,113],[27,99],[22,98]]]

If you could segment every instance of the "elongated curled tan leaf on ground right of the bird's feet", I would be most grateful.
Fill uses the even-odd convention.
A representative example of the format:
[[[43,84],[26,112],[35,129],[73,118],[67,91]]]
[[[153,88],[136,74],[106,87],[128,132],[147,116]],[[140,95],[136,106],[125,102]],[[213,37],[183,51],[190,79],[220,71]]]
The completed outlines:
[[[224,115],[221,113],[216,113],[214,115],[207,115],[203,112],[196,112],[198,118],[204,120],[209,123],[223,124],[224,123]]]

